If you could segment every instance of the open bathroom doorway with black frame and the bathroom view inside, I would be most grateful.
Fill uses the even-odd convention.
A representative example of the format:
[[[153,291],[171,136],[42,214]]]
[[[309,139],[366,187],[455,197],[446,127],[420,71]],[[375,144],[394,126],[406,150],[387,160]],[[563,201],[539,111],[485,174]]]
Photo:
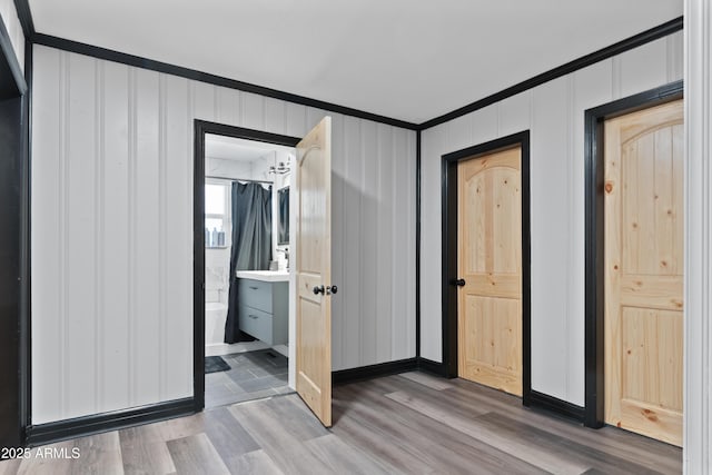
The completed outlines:
[[[196,410],[294,392],[289,185],[298,141],[196,121]]]

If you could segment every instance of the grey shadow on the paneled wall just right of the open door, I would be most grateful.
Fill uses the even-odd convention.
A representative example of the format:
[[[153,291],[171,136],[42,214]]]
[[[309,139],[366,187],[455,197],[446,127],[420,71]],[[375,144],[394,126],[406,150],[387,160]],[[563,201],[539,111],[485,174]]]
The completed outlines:
[[[332,171],[332,283],[339,286],[332,299],[334,370],[390,359],[395,229],[385,217],[394,206]]]

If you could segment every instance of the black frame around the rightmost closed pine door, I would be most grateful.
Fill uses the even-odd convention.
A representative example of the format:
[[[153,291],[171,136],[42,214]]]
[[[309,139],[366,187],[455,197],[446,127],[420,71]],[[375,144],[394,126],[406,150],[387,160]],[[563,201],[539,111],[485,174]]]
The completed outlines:
[[[587,109],[584,113],[585,160],[585,390],[584,426],[604,422],[604,133],[605,120],[660,106],[683,97],[683,81]]]

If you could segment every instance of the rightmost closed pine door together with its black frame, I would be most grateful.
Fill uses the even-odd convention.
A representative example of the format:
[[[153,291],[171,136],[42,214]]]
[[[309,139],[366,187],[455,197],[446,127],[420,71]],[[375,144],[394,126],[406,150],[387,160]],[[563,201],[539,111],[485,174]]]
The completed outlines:
[[[683,303],[675,291],[682,290],[682,249],[673,244],[683,238],[682,97],[678,81],[585,113],[584,423],[676,445]],[[676,374],[679,384],[657,384],[666,374]],[[645,429],[651,425],[653,432]]]

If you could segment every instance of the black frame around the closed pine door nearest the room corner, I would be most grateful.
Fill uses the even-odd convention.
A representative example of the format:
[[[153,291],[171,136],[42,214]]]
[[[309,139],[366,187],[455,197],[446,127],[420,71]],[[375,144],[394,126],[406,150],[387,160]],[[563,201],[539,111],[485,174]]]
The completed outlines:
[[[508,148],[522,148],[522,399],[532,393],[531,327],[531,231],[530,231],[530,131],[502,137],[442,157],[443,191],[443,367],[445,376],[457,377],[457,164]]]

